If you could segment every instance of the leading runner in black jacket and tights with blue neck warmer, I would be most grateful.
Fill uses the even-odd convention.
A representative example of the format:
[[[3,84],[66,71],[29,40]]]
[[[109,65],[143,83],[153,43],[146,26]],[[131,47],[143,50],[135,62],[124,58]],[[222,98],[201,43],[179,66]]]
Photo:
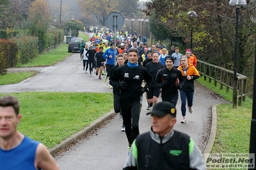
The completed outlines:
[[[150,88],[152,77],[146,68],[139,66],[137,49],[129,49],[128,60],[127,65],[116,68],[109,83],[115,88],[120,88],[120,107],[130,149],[132,141],[140,134],[142,95]],[[141,87],[143,80],[147,81],[144,88]]]

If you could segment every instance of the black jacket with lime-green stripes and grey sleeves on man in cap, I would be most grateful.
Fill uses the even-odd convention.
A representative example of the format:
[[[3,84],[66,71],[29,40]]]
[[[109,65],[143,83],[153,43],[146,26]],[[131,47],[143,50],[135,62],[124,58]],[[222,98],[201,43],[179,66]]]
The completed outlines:
[[[123,170],[129,169],[205,169],[204,157],[188,135],[171,130],[160,139],[150,132],[138,135]]]

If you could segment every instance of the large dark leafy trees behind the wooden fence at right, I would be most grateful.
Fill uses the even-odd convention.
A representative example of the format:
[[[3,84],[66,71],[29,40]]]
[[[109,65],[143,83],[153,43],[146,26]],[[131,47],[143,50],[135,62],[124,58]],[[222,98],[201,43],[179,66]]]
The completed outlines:
[[[245,73],[251,63],[255,41],[256,1],[247,1],[239,13],[239,48],[237,72]],[[236,7],[228,1],[191,0],[166,1],[153,0],[146,3],[147,15],[156,13],[159,21],[172,32],[176,30],[184,37],[190,37],[193,27],[193,51],[198,58],[223,66],[230,70],[234,67],[234,43],[236,30]],[[195,11],[193,22],[188,12]],[[253,43],[252,43],[253,42]]]

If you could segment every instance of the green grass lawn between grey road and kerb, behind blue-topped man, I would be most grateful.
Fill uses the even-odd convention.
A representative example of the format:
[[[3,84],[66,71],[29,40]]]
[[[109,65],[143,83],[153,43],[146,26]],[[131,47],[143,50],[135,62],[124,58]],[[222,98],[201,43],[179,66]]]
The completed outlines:
[[[20,101],[19,132],[47,148],[86,127],[113,109],[112,93],[27,92],[14,95]]]

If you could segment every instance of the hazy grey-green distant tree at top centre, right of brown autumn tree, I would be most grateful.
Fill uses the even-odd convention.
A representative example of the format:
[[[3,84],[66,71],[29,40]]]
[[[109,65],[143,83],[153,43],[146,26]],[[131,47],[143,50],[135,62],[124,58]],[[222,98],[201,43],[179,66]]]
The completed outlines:
[[[124,17],[132,17],[132,13],[138,13],[140,10],[138,0],[118,0],[118,11],[124,15]]]

